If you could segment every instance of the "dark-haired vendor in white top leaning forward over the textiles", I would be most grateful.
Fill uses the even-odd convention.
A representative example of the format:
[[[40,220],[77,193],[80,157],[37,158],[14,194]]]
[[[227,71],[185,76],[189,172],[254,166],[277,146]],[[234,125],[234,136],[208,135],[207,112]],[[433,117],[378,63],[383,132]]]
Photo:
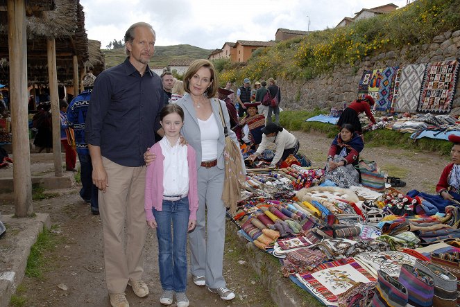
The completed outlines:
[[[298,152],[298,148],[300,147],[298,139],[280,125],[276,123],[267,123],[266,126],[262,128],[262,133],[262,142],[255,154],[250,155],[251,159],[255,160],[261,157],[262,152],[264,152],[269,143],[275,143],[276,146],[275,157],[273,157],[270,167],[275,167],[278,162],[282,162],[289,155],[296,155]]]

